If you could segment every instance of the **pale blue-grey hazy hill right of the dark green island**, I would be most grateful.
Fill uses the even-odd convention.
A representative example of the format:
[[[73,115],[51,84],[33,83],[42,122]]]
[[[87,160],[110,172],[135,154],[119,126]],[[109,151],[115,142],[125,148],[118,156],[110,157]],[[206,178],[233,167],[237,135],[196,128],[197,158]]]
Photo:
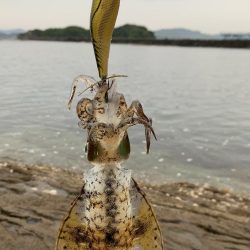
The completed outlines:
[[[200,31],[188,30],[188,29],[161,29],[154,32],[157,39],[173,39],[173,40],[220,40],[223,36],[218,35],[208,35],[201,33]]]

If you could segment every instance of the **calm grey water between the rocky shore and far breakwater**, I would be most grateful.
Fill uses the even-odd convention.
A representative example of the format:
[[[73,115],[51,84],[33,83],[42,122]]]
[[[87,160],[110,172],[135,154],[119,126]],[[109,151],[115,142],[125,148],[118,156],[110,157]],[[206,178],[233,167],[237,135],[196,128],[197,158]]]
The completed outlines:
[[[141,100],[158,136],[145,155],[143,128],[131,128],[124,165],[153,183],[250,192],[249,69],[250,50],[113,45],[110,73],[129,76],[119,90]],[[89,165],[66,108],[79,74],[97,76],[91,44],[0,41],[0,159]]]

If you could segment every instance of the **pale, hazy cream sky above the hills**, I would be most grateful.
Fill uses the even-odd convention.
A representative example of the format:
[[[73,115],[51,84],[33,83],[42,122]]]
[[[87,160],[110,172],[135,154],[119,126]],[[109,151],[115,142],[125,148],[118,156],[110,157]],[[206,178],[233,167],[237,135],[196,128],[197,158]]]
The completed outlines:
[[[120,0],[116,26],[250,32],[250,0]],[[89,27],[91,0],[0,0],[0,29]]]

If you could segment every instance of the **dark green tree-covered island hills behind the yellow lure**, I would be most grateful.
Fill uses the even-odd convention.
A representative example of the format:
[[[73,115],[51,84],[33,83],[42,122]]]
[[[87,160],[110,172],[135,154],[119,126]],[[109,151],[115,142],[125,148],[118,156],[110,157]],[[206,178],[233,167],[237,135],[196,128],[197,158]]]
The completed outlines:
[[[46,41],[90,41],[90,31],[77,26],[66,28],[31,30],[19,34],[21,40],[46,40]],[[113,40],[154,40],[154,33],[146,27],[126,24],[115,28]]]

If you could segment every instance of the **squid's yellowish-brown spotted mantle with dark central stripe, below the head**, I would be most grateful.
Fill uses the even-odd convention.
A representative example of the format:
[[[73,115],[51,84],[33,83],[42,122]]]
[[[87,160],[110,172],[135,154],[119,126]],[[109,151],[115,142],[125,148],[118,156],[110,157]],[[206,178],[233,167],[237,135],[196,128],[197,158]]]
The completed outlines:
[[[91,169],[85,180],[57,249],[163,249],[152,208],[130,171],[109,165]]]

